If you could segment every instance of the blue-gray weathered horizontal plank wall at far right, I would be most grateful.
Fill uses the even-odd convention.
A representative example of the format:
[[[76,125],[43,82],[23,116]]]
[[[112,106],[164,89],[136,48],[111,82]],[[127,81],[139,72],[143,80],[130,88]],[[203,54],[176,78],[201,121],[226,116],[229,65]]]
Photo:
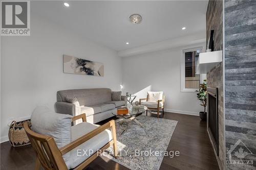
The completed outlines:
[[[226,150],[241,139],[254,153],[246,156],[246,160],[253,160],[255,168],[256,1],[225,1],[224,8]],[[230,166],[229,169],[237,167]]]

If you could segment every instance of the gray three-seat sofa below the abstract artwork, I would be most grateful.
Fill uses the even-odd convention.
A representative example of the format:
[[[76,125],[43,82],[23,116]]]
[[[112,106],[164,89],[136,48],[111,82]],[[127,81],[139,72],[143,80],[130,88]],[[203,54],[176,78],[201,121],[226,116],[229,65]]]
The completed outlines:
[[[66,98],[77,98],[79,105],[68,103]],[[121,101],[112,101],[109,88],[73,89],[57,91],[56,112],[76,116],[86,113],[87,122],[98,123],[112,117],[112,111],[126,103],[126,96]]]

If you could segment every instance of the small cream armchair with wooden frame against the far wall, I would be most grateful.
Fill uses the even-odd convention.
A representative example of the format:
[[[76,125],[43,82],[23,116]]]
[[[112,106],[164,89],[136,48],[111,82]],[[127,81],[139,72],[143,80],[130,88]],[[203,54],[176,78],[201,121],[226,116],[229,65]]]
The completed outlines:
[[[148,91],[147,92],[147,98],[140,99],[140,105],[144,105],[150,110],[156,110],[157,111],[157,118],[159,118],[160,109],[162,109],[163,115],[164,115],[164,95],[163,95],[163,92],[162,91]]]

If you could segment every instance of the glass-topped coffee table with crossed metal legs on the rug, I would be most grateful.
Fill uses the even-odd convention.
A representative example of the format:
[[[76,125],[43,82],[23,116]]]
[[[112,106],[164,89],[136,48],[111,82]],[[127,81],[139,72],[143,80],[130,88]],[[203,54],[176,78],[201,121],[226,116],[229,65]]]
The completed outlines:
[[[143,128],[143,125],[136,119],[136,117],[138,117],[139,115],[141,115],[142,113],[144,113],[147,110],[146,106],[143,106],[141,108],[133,108],[132,110],[130,110],[128,112],[128,114],[117,114],[117,111],[113,111],[112,114],[114,114],[116,117],[118,117],[119,119],[116,120],[117,123],[125,123],[126,124],[126,128],[123,130],[123,132],[121,134],[123,134],[127,128],[129,127],[129,124],[132,122],[137,123],[138,125],[140,125]]]

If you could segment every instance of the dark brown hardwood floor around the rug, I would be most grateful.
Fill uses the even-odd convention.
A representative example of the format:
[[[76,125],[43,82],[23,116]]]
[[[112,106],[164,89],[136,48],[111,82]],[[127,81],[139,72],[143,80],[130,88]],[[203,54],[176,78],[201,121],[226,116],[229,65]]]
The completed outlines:
[[[155,115],[148,113],[148,116]],[[178,125],[169,142],[167,151],[179,151],[180,155],[174,158],[165,156],[160,169],[219,169],[206,131],[206,122],[202,122],[198,116],[168,112],[165,112],[164,118],[178,120]],[[101,122],[101,124],[104,122]],[[34,169],[34,166],[35,153],[31,145],[13,148],[9,142],[1,144],[1,170],[29,170]],[[128,168],[100,156],[85,169]]]

